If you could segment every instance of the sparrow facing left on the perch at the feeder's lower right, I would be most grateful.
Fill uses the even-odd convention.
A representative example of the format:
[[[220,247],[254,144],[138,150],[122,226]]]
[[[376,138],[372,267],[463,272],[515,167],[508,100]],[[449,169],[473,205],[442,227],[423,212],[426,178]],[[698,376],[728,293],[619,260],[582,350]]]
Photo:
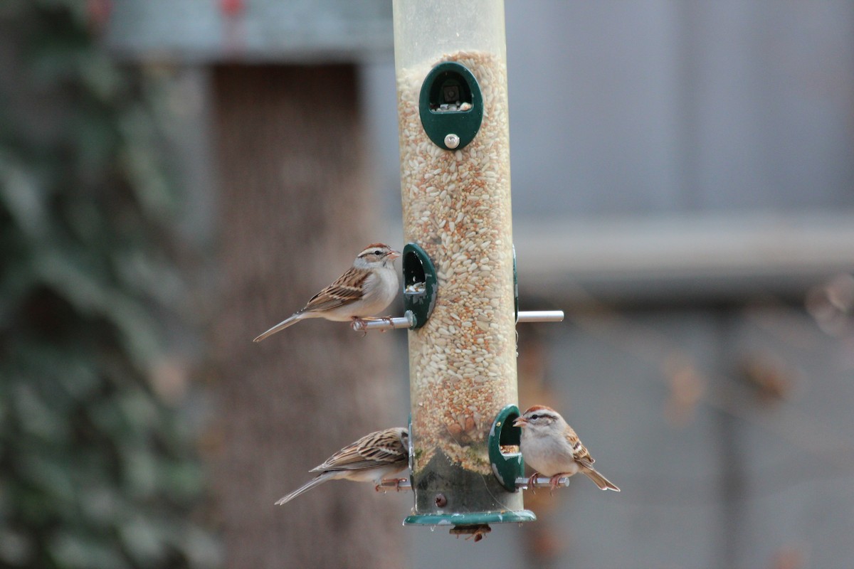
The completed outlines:
[[[542,474],[551,477],[554,490],[561,476],[580,472],[593,480],[601,490],[620,491],[596,471],[593,456],[590,456],[572,427],[554,409],[535,405],[513,421],[513,426],[522,427],[519,451],[524,461],[537,471],[531,476],[531,485],[535,477]]]

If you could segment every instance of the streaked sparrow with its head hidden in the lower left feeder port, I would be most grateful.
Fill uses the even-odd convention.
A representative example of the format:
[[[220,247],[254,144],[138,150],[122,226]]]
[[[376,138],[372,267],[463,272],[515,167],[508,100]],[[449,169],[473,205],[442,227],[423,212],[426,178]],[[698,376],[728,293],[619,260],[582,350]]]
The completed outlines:
[[[326,480],[345,479],[354,482],[373,482],[374,490],[389,477],[409,465],[409,433],[403,427],[393,427],[366,434],[353,444],[326,459],[309,472],[319,474],[276,502],[280,506]],[[395,479],[401,482],[406,479]]]

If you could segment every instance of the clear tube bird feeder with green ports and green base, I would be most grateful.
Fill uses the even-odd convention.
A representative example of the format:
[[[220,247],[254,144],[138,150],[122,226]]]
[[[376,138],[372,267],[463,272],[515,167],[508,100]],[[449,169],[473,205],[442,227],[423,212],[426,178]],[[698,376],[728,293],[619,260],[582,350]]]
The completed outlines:
[[[477,539],[489,523],[535,520],[517,489],[524,464],[512,448],[518,394],[504,5],[393,6],[403,225],[412,252],[403,273],[415,508],[405,523],[453,525],[453,533]]]

